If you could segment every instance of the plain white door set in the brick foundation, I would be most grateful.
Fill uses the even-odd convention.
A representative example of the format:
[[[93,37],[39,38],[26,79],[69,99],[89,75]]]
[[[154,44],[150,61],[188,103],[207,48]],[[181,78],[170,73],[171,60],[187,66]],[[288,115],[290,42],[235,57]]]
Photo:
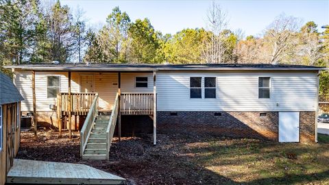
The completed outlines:
[[[300,141],[300,112],[279,112],[279,142]]]

